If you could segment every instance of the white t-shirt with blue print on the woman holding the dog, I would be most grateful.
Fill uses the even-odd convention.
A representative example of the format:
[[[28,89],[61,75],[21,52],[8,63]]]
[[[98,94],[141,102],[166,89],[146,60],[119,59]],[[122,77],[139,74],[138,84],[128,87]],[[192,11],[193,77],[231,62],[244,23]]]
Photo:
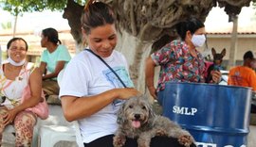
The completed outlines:
[[[128,73],[125,57],[113,51],[110,57],[103,58],[112,67],[127,87],[134,87]],[[60,97],[97,95],[106,90],[122,88],[119,79],[96,56],[82,51],[67,64],[61,81]],[[88,143],[94,139],[114,134],[117,130],[117,111],[122,101],[115,101],[99,112],[79,120],[82,141]],[[86,104],[84,104],[86,105]]]

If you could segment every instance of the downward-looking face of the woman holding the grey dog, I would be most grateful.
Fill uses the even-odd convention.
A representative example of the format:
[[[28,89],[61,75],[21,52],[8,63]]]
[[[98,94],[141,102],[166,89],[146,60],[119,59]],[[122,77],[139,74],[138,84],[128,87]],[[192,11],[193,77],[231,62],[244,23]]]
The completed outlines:
[[[92,28],[85,37],[90,49],[100,57],[109,57],[118,41],[115,24],[104,24]]]

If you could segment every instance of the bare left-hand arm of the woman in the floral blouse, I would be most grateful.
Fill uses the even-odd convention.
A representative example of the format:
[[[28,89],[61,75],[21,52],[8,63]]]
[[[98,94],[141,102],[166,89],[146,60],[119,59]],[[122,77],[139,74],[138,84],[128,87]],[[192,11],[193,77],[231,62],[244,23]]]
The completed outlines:
[[[154,86],[154,76],[155,76],[155,62],[152,57],[146,59],[146,85],[150,91],[150,94],[156,99],[156,90]]]

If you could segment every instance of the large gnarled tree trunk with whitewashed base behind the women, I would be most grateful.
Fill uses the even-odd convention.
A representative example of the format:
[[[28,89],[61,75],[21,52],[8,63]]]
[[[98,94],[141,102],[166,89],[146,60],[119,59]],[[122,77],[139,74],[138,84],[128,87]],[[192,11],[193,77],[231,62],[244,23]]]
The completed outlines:
[[[119,30],[117,50],[126,56],[130,74],[137,90],[145,89],[145,58],[175,38],[174,25],[191,16],[203,22],[210,9],[225,8],[228,15],[239,14],[251,0],[101,0],[115,11]],[[68,20],[71,34],[77,42],[77,52],[83,47],[80,18],[82,6],[67,0],[64,18]]]

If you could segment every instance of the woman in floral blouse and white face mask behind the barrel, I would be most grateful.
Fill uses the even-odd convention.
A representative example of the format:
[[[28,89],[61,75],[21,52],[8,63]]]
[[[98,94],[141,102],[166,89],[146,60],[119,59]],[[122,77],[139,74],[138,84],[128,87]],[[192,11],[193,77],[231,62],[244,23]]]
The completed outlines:
[[[196,18],[190,18],[176,25],[180,40],[171,41],[146,60],[146,85],[151,95],[161,103],[159,92],[166,82],[205,82],[204,58],[196,50],[206,41],[205,25]],[[160,66],[157,89],[154,86],[155,66]],[[221,73],[212,73],[212,82],[217,83]]]

